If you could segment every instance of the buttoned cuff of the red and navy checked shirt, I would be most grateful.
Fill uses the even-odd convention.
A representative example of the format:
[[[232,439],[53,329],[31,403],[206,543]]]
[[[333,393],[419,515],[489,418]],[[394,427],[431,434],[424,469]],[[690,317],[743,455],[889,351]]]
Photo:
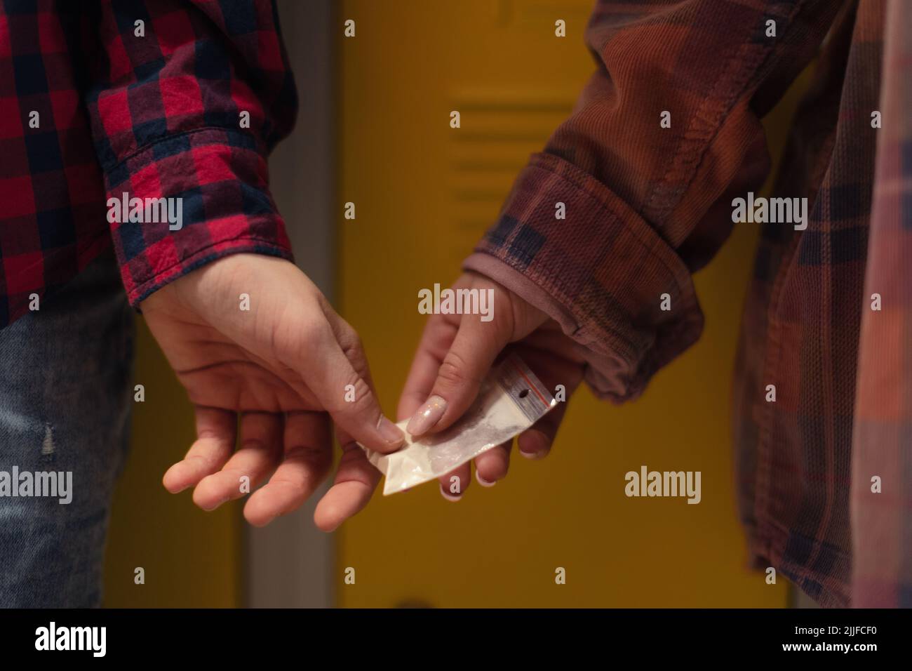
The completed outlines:
[[[242,132],[208,128],[167,137],[107,170],[105,186],[120,275],[134,307],[230,254],[293,259],[263,148]]]

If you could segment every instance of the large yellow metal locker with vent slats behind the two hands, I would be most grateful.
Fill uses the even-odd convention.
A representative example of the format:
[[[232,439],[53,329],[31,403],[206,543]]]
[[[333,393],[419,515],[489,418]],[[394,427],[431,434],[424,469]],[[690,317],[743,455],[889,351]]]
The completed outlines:
[[[340,309],[366,343],[389,414],[424,321],[419,289],[458,276],[593,71],[583,42],[591,6],[341,5],[340,34],[352,19],[356,37],[338,45]],[[565,38],[554,35],[557,19]],[[777,136],[793,98],[768,121]],[[355,220],[341,216],[347,202]],[[705,333],[644,398],[615,407],[577,393],[551,456],[528,462],[514,450],[505,480],[472,483],[459,503],[433,484],[377,494],[339,532],[339,604],[784,605],[784,581],[767,585],[744,568],[731,463],[732,362],[755,236],[737,228],[700,273]],[[644,464],[701,470],[700,505],[626,498],[624,474]],[[341,580],[347,567],[355,584]]]

